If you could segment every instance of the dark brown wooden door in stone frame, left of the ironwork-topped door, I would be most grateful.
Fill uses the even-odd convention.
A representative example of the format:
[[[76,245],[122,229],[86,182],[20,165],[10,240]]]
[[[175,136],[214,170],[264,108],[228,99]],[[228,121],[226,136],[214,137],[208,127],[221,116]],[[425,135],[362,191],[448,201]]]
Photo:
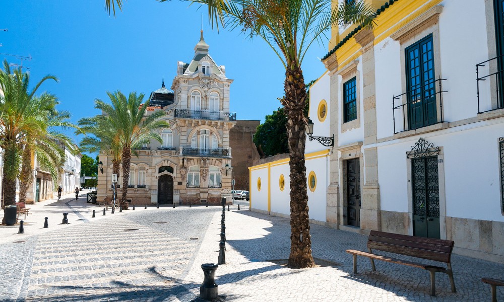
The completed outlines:
[[[346,161],[348,225],[360,226],[360,165],[359,159]]]

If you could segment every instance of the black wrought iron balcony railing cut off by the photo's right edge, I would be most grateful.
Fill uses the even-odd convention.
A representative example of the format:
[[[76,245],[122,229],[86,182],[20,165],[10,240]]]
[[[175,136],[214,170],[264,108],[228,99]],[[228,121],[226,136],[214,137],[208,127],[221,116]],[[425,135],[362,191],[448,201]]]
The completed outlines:
[[[488,68],[481,68],[488,65]],[[493,66],[495,65],[495,67]],[[483,70],[488,70],[489,74],[479,76],[479,73]],[[490,70],[496,70],[491,72]],[[493,111],[497,109],[504,108],[504,97],[502,95],[502,90],[504,90],[504,55],[496,56],[489,60],[483,61],[481,63],[476,62],[476,87],[477,87],[477,95],[478,95],[478,114]],[[490,80],[490,89],[489,89],[489,102],[486,102],[487,105],[484,106],[481,104],[480,100],[480,85],[483,85],[482,81]],[[494,87],[493,87],[494,86]],[[495,90],[495,94],[492,95],[492,92]],[[493,99],[493,100],[492,100]],[[488,106],[490,103],[490,106]],[[484,107],[482,110],[481,107]]]

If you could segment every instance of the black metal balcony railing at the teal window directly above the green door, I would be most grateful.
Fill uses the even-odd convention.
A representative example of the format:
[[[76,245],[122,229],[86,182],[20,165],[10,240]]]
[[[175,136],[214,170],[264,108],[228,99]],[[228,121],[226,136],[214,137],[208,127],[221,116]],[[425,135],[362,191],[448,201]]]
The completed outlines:
[[[414,90],[410,90],[410,91],[402,93],[398,96],[392,97],[392,119],[393,119],[393,123],[394,123],[394,134],[408,131],[408,130],[416,130],[416,129],[423,128],[426,126],[446,122],[444,120],[444,114],[443,114],[443,93],[448,92],[448,91],[443,90],[442,81],[446,81],[446,79],[442,79],[441,77],[439,77],[439,79],[430,81],[427,84],[420,86],[419,88],[416,88]],[[437,83],[437,87],[436,87],[436,83]],[[427,88],[425,89],[425,91],[434,90],[435,92],[433,94],[429,94],[428,96],[421,97],[420,99],[416,99],[414,101],[408,101],[408,102],[401,104],[401,105],[398,105],[398,106],[395,105],[396,100],[400,100],[403,96],[406,96],[409,99],[412,92],[417,92],[417,91],[425,88],[426,86],[427,86]],[[439,102],[437,102],[437,101],[439,101]],[[423,114],[428,114],[428,112],[426,112],[426,110],[425,110],[425,107],[427,105],[424,102],[425,103],[434,102],[435,108],[437,108],[437,106],[439,106],[439,113],[440,113],[439,117],[440,118],[438,118],[437,110],[436,110],[435,122],[422,123],[420,126],[418,126],[417,120],[416,120],[416,114],[414,114],[414,113],[416,110],[423,110]],[[412,108],[413,106],[418,106],[417,104],[419,104],[419,103],[421,106],[420,108]],[[403,130],[401,130],[401,131],[396,131],[396,110],[402,111]],[[406,117],[408,118],[408,121],[406,121]]]

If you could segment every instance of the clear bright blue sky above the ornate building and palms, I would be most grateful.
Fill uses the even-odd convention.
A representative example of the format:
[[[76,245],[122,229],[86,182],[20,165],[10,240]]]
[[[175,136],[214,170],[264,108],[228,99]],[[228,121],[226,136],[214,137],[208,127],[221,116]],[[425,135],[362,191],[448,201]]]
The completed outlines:
[[[109,17],[104,0],[2,1],[0,53],[31,56],[34,84],[46,74],[59,83],[45,82],[39,90],[54,93],[60,110],[72,112],[72,121],[93,116],[94,100],[106,100],[106,91],[137,91],[149,96],[167,88],[175,77],[177,61],[189,62],[199,41],[201,18],[205,41],[217,64],[226,66],[231,85],[231,111],[238,119],[264,121],[280,106],[284,68],[261,38],[249,39],[239,29],[212,30],[206,8],[187,2],[158,3],[129,0],[116,18]],[[303,61],[306,83],[325,71],[317,57],[327,53],[327,42],[314,43]],[[20,63],[13,56],[0,59]],[[79,141],[79,137],[76,141]]]

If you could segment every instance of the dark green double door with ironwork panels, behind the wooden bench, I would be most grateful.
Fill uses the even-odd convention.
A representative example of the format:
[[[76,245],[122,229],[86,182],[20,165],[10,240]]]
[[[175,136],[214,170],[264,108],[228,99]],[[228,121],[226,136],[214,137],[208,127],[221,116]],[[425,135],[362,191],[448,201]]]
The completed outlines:
[[[437,157],[411,160],[413,235],[440,238]]]

